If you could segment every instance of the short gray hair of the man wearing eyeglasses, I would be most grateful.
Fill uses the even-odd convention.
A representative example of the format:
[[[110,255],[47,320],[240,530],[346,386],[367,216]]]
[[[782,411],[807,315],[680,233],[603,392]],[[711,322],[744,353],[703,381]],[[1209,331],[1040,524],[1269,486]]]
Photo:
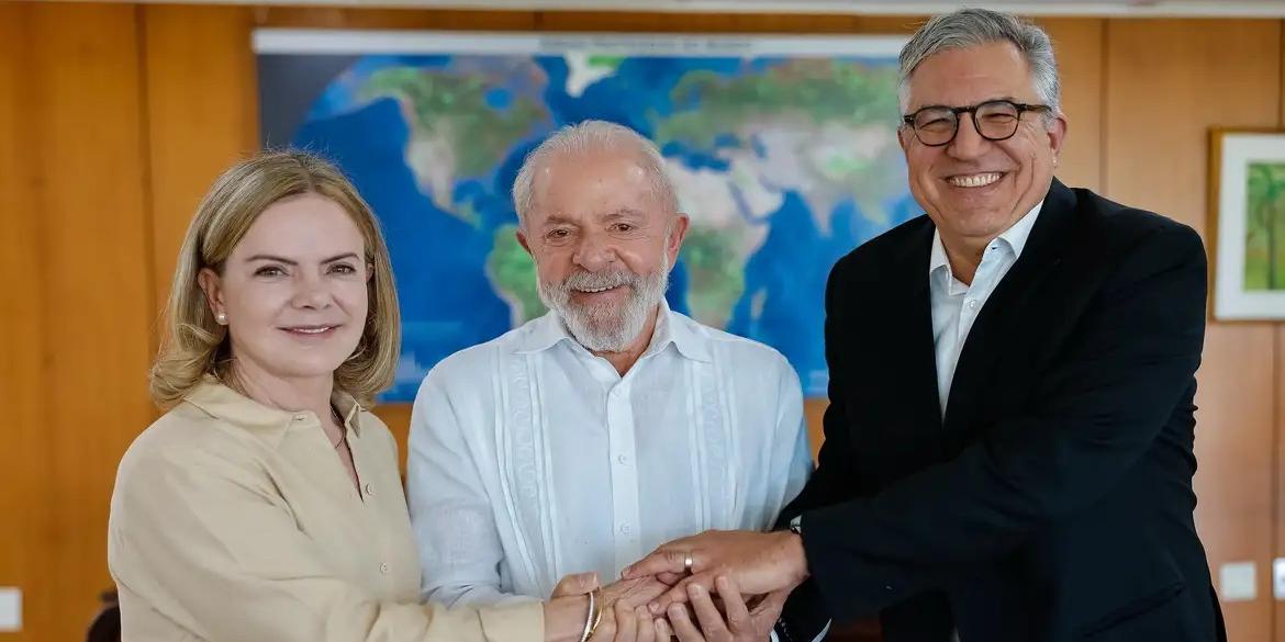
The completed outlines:
[[[966,49],[991,42],[1011,42],[1031,68],[1036,95],[1051,107],[1050,114],[1061,113],[1061,85],[1052,41],[1040,27],[1007,13],[988,9],[960,9],[934,15],[911,36],[901,50],[897,94],[901,110],[910,108],[910,77],[928,58],[952,49]]]

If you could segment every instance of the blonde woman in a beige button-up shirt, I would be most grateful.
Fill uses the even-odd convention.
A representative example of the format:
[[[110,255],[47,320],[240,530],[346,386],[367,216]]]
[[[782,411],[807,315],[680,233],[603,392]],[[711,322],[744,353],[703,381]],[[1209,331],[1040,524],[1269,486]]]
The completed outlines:
[[[649,642],[655,580],[491,610],[418,603],[396,443],[368,408],[397,361],[370,208],[328,163],[245,160],[188,230],[108,562],[131,642]],[[605,616],[604,616],[605,615]],[[596,627],[595,627],[596,625]]]

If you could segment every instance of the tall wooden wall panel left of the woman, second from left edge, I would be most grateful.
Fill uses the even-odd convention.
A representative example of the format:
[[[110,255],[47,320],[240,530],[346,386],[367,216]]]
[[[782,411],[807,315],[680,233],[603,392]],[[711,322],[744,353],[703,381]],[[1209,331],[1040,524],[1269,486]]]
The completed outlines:
[[[130,5],[41,5],[33,24],[45,54],[37,211],[44,218],[48,416],[46,475],[54,488],[60,616],[49,634],[75,639],[105,566],[108,498],[116,464],[152,420],[144,386],[153,306],[150,230],[141,162],[136,10]],[[75,181],[76,189],[67,189]]]

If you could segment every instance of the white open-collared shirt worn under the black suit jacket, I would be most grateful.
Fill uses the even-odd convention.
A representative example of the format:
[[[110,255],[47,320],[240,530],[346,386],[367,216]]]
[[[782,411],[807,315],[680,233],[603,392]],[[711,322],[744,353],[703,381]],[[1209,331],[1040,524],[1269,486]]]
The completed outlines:
[[[946,247],[942,245],[941,232],[933,232],[928,281],[933,304],[933,342],[937,348],[937,395],[941,399],[942,416],[946,415],[955,366],[959,365],[960,352],[964,351],[964,342],[973,329],[973,321],[977,321],[986,299],[991,298],[1004,275],[1009,273],[1009,268],[1022,256],[1022,248],[1031,236],[1031,229],[1036,225],[1041,207],[1043,207],[1042,200],[987,245],[982,253],[982,263],[973,275],[971,285],[964,285],[955,277],[951,262],[946,257]]]

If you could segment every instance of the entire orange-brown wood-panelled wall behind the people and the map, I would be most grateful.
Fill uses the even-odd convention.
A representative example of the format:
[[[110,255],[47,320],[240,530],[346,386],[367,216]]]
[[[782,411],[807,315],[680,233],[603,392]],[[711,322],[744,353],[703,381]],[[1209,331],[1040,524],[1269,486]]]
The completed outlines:
[[[13,275],[0,289],[0,403],[6,444],[23,453],[0,488],[0,510],[23,516],[0,529],[0,586],[27,591],[26,633],[0,639],[78,639],[107,587],[107,498],[154,416],[144,375],[179,241],[215,175],[257,146],[253,26],[908,33],[920,21],[0,3],[0,266]],[[1061,64],[1059,176],[1072,185],[1204,229],[1207,127],[1285,122],[1279,21],[1038,22]],[[1254,560],[1261,578],[1257,602],[1226,607],[1232,639],[1272,629],[1282,367],[1285,329],[1210,325],[1198,519],[1216,566]],[[824,407],[806,407],[813,448]],[[405,452],[409,406],[378,412]]]

